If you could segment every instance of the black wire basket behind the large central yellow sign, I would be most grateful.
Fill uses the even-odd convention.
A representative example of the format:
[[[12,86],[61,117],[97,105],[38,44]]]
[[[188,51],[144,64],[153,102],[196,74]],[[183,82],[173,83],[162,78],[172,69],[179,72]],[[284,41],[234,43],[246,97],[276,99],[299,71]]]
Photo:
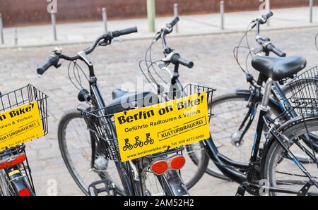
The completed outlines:
[[[129,109],[139,109],[141,107],[151,106],[165,101],[171,101],[184,96],[192,94],[199,94],[201,92],[207,93],[208,103],[208,120],[211,120],[213,99],[213,92],[216,89],[210,87],[203,87],[199,85],[187,85],[183,92],[165,92],[163,94],[149,94],[144,97],[142,94],[136,95],[136,99],[122,98],[120,104],[108,106],[105,109],[98,109],[95,111],[83,111],[82,115],[85,119],[88,130],[97,141],[97,150],[100,154],[105,155],[107,159],[120,161],[119,144],[117,141],[117,132],[114,124],[114,113],[128,111]],[[124,102],[123,102],[124,101]]]

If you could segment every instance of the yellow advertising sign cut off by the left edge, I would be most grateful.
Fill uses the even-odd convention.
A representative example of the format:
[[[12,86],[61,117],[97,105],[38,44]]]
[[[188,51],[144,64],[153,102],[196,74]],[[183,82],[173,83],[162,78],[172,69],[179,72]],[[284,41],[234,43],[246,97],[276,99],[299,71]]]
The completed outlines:
[[[0,113],[0,151],[43,135],[37,101]]]

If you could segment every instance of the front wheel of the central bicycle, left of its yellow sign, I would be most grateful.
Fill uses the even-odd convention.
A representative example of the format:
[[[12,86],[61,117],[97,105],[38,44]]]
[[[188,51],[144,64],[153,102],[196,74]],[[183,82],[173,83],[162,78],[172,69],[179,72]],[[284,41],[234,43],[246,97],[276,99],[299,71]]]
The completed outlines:
[[[90,132],[81,112],[67,111],[59,122],[59,148],[64,163],[81,191],[90,195],[91,183],[108,179],[117,187],[117,194],[124,195],[117,166],[103,154],[95,154],[95,167],[91,167],[92,145]]]

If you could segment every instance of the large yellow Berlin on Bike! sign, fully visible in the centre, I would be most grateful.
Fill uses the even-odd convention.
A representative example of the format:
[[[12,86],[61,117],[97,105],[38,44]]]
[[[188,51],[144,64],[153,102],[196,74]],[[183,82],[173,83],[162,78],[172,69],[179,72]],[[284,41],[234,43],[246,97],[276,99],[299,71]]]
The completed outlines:
[[[210,137],[207,94],[114,114],[122,161]]]

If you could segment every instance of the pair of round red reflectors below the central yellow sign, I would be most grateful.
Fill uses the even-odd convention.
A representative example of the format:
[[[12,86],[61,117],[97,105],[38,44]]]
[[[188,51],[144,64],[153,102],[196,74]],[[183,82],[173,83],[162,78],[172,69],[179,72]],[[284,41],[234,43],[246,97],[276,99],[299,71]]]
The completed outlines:
[[[185,162],[186,160],[182,155],[172,156],[168,159],[162,159],[151,163],[151,171],[156,175],[163,175],[163,173],[166,173],[169,170],[180,170]]]

